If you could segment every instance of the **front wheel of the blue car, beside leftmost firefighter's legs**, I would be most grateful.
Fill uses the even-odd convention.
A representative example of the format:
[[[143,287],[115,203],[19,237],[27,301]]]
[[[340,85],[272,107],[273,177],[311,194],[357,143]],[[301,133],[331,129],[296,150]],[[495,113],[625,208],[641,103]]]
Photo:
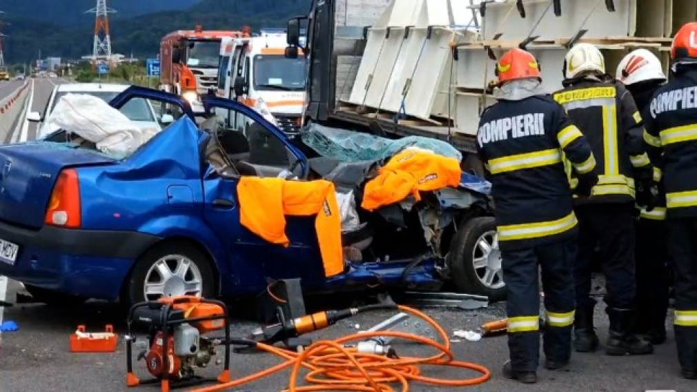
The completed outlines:
[[[447,254],[452,282],[459,292],[505,299],[496,223],[489,216],[465,220],[457,229]]]

